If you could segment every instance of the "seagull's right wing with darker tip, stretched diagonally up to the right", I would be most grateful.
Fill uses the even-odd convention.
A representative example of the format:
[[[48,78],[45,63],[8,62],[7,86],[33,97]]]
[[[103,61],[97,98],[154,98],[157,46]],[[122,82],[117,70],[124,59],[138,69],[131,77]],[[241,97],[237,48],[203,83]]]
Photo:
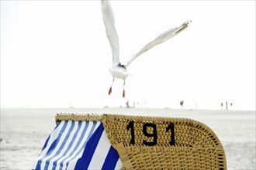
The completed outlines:
[[[147,43],[146,46],[144,46],[142,49],[140,49],[140,51],[138,53],[133,54],[133,56],[126,63],[125,66],[129,66],[130,63],[132,63],[134,59],[136,59],[142,53],[145,53],[148,49],[152,49],[157,44],[165,42],[166,40],[171,39],[171,37],[176,36],[179,32],[182,32],[185,28],[188,27],[189,22],[191,22],[191,21],[184,22],[182,24],[182,26],[171,28],[171,29],[168,29],[168,31],[165,31],[165,32],[161,33],[161,35],[157,36],[156,39],[154,39],[153,41]]]

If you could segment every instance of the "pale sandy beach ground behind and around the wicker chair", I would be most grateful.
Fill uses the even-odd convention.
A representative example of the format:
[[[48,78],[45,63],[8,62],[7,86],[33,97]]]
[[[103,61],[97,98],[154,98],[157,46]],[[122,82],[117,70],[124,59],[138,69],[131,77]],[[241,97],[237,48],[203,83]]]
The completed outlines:
[[[57,113],[192,118],[206,124],[216,133],[225,150],[228,169],[256,169],[255,111],[148,108],[2,108],[0,169],[32,169],[44,142],[55,127]]]

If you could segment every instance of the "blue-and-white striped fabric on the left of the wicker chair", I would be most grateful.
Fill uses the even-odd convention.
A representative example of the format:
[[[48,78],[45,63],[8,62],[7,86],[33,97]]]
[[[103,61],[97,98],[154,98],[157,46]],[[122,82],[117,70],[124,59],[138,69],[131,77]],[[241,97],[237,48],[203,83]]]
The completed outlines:
[[[35,169],[121,169],[100,121],[59,121],[38,155]]]

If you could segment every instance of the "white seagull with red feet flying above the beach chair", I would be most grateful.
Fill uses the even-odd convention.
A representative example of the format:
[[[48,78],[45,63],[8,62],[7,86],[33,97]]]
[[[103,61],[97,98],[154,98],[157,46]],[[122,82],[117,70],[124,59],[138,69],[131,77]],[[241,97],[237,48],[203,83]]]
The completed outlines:
[[[102,0],[102,19],[106,27],[106,36],[109,39],[109,45],[112,50],[112,66],[109,68],[109,73],[113,77],[112,84],[114,83],[115,79],[123,79],[123,97],[125,97],[126,78],[130,75],[127,71],[127,67],[130,66],[130,63],[132,63],[134,59],[137,59],[137,57],[142,53],[145,53],[148,49],[151,49],[157,44],[165,42],[166,40],[171,39],[171,37],[176,36],[179,32],[182,32],[188,27],[189,22],[191,22],[184,22],[181,26],[168,29],[167,31],[161,33],[156,39],[148,42],[147,45],[140,49],[139,52],[133,54],[130,60],[128,60],[125,64],[121,64],[119,61],[119,40],[115,27],[115,19],[112,12],[112,7],[108,0]],[[109,95],[112,93],[112,84],[109,88]]]

